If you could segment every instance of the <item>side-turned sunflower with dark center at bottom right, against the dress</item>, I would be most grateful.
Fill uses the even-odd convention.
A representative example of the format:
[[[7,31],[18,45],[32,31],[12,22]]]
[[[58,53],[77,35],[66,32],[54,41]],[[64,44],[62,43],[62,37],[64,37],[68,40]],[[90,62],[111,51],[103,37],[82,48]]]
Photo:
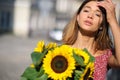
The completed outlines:
[[[87,79],[91,80],[91,79],[93,79],[93,72],[94,72],[94,63],[90,62],[86,66],[86,68],[85,68],[83,74],[80,76],[79,80],[87,80]]]

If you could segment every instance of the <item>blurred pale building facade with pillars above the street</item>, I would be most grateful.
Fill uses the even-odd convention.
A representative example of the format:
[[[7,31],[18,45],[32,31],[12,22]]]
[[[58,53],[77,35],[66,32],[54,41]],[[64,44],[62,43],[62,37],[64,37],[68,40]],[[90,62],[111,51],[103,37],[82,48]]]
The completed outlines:
[[[41,30],[63,29],[83,0],[0,0],[0,32],[29,36]],[[120,19],[120,1],[117,18]]]

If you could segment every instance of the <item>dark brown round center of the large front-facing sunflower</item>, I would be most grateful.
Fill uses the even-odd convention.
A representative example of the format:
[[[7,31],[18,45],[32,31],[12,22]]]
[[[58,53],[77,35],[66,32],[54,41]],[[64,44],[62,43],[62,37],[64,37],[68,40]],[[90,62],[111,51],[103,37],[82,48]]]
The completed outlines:
[[[58,55],[51,61],[51,68],[56,73],[64,72],[68,67],[68,61],[64,56]]]

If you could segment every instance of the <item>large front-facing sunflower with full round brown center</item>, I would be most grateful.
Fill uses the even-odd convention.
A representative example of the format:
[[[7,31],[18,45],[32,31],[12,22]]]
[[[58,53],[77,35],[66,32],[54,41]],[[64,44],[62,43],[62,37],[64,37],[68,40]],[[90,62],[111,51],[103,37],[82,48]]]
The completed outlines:
[[[72,77],[75,60],[71,56],[69,48],[67,46],[57,47],[49,51],[43,59],[43,69],[51,79],[66,80],[67,77]]]

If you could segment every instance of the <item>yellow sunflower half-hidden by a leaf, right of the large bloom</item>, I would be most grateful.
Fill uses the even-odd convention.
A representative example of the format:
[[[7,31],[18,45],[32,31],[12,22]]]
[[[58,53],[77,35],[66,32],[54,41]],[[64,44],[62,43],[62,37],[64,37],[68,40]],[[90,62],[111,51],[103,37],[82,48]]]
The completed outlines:
[[[77,55],[83,58],[85,65],[89,62],[90,56],[84,50],[74,48],[74,51]]]

